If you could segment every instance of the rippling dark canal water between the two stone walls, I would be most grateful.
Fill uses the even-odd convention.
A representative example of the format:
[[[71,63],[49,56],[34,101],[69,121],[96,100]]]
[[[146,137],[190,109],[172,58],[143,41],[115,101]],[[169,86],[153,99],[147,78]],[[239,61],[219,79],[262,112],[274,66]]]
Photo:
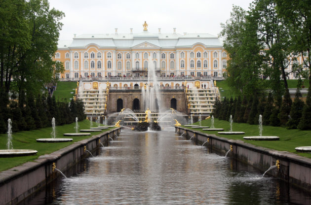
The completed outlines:
[[[160,132],[122,130],[98,156],[87,158],[21,204],[27,205],[291,205],[311,196],[262,171]]]

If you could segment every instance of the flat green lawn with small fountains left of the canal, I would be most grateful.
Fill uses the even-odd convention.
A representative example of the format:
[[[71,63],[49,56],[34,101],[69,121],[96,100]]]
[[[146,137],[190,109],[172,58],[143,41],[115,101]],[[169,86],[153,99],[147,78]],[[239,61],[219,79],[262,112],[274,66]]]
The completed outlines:
[[[78,125],[79,125],[79,130],[89,129],[90,121],[84,120],[84,121],[78,122]],[[98,135],[101,133],[101,131],[90,132],[91,136],[80,136],[80,137],[63,136],[64,133],[75,133],[76,132],[76,130],[74,129],[75,126],[76,126],[76,123],[72,123],[72,124],[63,125],[63,126],[56,126],[56,129],[55,129],[57,138],[73,138],[74,140],[72,142],[60,142],[60,143],[37,142],[36,139],[38,138],[50,138],[51,137],[51,132],[52,132],[51,127],[38,129],[38,130],[13,133],[12,135],[13,149],[33,149],[33,150],[37,150],[38,153],[35,156],[0,158],[0,171],[16,167],[28,161],[33,161],[37,159],[40,155],[50,154],[56,150],[59,150],[61,148],[64,148],[72,144],[73,142],[80,141],[82,139],[86,139],[88,137]],[[94,122],[93,122],[93,127],[96,127],[96,124]],[[102,132],[106,132],[110,129],[112,128],[103,130]],[[0,149],[7,149],[6,142],[7,142],[7,134],[1,134],[0,135]]]

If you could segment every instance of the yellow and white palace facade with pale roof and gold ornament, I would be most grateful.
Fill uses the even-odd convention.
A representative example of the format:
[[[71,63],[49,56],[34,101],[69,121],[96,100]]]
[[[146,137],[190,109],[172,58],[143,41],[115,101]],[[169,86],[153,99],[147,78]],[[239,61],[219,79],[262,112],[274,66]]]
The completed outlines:
[[[82,34],[59,41],[55,60],[64,64],[60,78],[146,76],[148,58],[157,76],[221,78],[227,66],[222,41],[211,34]]]

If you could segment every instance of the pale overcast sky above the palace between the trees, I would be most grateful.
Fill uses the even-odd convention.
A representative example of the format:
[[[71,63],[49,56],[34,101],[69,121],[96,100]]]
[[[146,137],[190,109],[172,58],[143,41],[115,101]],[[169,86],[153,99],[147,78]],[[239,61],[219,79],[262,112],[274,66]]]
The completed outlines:
[[[60,40],[74,34],[141,33],[148,31],[179,34],[218,35],[220,23],[230,18],[232,5],[248,9],[252,0],[49,0],[50,7],[65,13]]]

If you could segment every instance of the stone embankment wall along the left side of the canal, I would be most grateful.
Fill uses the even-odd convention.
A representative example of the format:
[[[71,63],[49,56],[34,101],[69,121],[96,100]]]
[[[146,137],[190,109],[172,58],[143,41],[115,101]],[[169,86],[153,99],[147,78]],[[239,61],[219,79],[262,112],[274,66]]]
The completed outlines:
[[[74,142],[51,154],[42,155],[34,162],[27,162],[21,166],[1,171],[0,205],[15,205],[21,202],[60,175],[60,172],[53,171],[53,163],[55,163],[56,169],[66,171],[81,159],[90,156],[85,149],[96,155],[99,147],[102,146],[100,142],[107,146],[109,137],[114,138],[114,133],[119,134],[119,132],[120,128],[115,128]]]

